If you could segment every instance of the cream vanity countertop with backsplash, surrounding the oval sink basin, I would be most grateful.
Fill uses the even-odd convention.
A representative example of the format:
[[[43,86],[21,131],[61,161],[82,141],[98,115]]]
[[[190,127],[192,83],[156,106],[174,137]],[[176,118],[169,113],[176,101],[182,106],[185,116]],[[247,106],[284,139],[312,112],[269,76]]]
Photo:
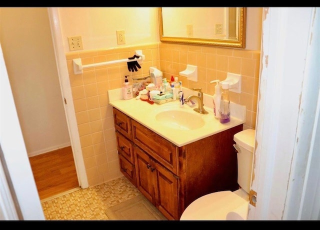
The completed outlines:
[[[187,95],[196,94],[193,93],[191,89],[183,87],[182,89],[185,95],[184,98],[186,98]],[[213,135],[215,133],[224,131],[226,129],[232,128],[239,124],[243,124],[245,122],[245,106],[230,102],[230,121],[224,124],[220,123],[219,120],[215,118],[213,115],[213,105],[211,105],[212,96],[205,93],[203,93],[203,101],[205,110],[209,112],[208,114],[201,114],[195,112],[193,111],[194,107],[190,107],[187,104],[184,104],[184,106],[180,108],[178,100],[166,102],[163,104],[149,104],[146,101],[135,99],[134,97],[132,99],[127,100],[122,99],[121,89],[108,90],[108,94],[109,104],[111,106],[119,109],[132,119],[138,121],[139,123],[143,124],[147,128],[151,129],[155,133],[159,134],[163,138],[169,140],[170,142],[179,147],[191,143],[193,141],[202,139],[204,137]],[[164,126],[160,122],[157,122],[155,120],[154,115],[152,115],[152,111],[154,111],[154,109],[160,108],[161,106],[167,105],[172,105],[172,107],[176,109],[182,109],[184,111],[191,110],[198,116],[201,116],[205,124],[202,127],[192,130],[179,130],[176,128]],[[197,107],[197,105],[195,107]]]

